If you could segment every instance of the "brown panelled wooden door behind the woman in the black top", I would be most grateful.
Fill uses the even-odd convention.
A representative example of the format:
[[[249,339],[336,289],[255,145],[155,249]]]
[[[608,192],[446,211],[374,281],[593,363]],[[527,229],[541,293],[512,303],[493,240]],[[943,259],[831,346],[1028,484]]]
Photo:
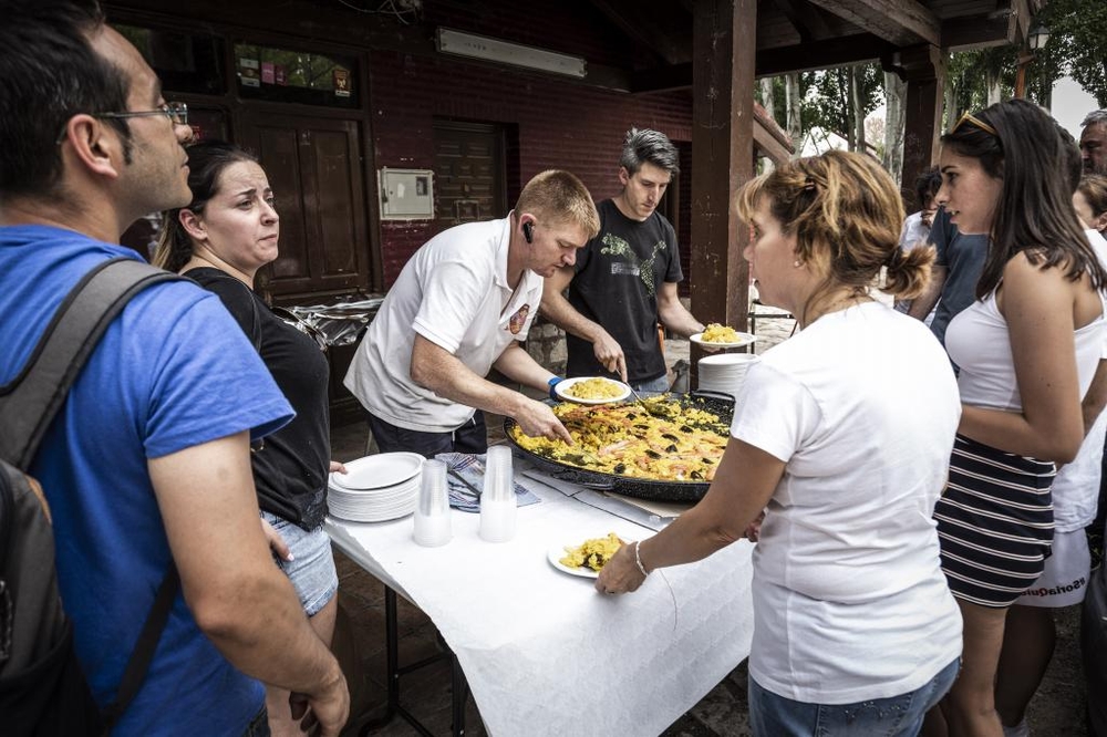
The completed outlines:
[[[280,257],[268,268],[266,291],[286,302],[368,291],[359,123],[259,112],[244,128],[242,142],[261,162],[280,214]]]

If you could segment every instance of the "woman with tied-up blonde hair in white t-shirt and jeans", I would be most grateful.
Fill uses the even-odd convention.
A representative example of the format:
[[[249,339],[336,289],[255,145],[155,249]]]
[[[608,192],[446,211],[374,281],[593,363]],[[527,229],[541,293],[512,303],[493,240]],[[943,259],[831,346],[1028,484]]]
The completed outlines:
[[[961,653],[931,517],[961,409],[933,334],[868,289],[887,267],[884,290],[914,297],[933,249],[899,249],[899,193],[857,154],[792,162],[737,208],[762,300],[803,331],[749,369],[704,499],[623,547],[597,589],[633,591],[652,569],[759,534],[754,734],[918,734]]]

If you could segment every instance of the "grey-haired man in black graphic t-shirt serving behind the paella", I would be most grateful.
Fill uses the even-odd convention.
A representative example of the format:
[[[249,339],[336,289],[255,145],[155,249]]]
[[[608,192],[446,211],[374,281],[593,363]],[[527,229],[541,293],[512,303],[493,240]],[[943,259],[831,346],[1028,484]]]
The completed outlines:
[[[567,375],[617,373],[637,391],[665,391],[658,322],[685,338],[703,331],[676,293],[676,232],[656,211],[677,153],[664,134],[631,128],[619,164],[622,191],[597,205],[600,232],[576,264],[546,279],[541,312],[566,331]]]

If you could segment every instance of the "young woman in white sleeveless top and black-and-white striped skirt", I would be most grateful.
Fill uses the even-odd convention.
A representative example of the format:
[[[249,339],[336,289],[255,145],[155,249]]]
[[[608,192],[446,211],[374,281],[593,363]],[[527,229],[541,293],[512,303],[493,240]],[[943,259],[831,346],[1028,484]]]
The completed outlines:
[[[1107,273],[1073,208],[1072,152],[1042,108],[1012,100],[966,113],[942,143],[937,199],[962,232],[989,236],[976,301],[945,334],[962,414],[934,517],[964,666],[942,713],[954,735],[997,736],[1005,617],[1051,552],[1054,464],[1084,439]]]

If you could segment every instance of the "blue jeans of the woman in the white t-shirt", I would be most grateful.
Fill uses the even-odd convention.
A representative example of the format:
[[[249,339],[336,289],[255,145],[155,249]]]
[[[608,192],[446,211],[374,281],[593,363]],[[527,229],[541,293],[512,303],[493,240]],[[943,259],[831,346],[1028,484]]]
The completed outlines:
[[[756,737],[914,737],[922,719],[953,685],[961,658],[920,688],[856,704],[805,704],[765,691],[749,678],[749,726]]]

